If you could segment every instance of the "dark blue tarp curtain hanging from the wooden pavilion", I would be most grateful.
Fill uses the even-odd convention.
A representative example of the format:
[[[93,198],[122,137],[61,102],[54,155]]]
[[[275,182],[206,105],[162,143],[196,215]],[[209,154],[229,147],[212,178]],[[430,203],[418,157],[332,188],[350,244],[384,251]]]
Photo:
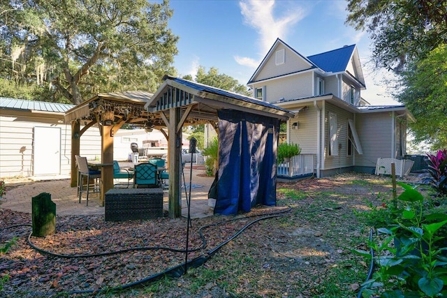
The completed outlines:
[[[219,180],[214,214],[276,204],[279,119],[219,110]]]

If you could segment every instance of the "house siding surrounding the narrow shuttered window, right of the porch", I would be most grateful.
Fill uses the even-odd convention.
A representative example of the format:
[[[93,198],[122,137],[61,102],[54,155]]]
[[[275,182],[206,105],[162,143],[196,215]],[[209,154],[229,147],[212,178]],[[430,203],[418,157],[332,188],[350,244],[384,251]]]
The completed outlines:
[[[330,156],[328,151],[329,146],[329,114],[337,115],[337,146],[338,155]],[[325,161],[324,169],[335,169],[338,167],[350,167],[353,165],[353,157],[347,156],[347,138],[348,138],[348,119],[353,119],[353,114],[347,112],[340,107],[325,104],[325,131],[324,131],[324,146],[325,146]]]

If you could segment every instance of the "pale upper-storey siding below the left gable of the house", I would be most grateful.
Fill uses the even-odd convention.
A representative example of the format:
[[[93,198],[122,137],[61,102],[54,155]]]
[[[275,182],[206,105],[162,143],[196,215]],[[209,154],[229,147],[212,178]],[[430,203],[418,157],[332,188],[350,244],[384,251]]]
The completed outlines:
[[[301,73],[271,80],[264,84],[254,84],[254,88],[261,88],[264,85],[265,98],[270,103],[281,98],[296,99],[313,95],[312,73]]]

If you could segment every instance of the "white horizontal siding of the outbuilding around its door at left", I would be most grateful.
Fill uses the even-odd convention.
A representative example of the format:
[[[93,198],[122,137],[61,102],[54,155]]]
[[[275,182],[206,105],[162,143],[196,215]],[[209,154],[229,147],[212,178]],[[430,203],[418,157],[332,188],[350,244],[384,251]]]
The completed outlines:
[[[0,178],[30,177],[33,170],[33,130],[35,126],[61,128],[61,172],[71,171],[71,126],[54,117],[36,117],[18,112],[0,115]],[[80,154],[94,159],[101,156],[101,137],[98,128],[90,128],[81,137]]]

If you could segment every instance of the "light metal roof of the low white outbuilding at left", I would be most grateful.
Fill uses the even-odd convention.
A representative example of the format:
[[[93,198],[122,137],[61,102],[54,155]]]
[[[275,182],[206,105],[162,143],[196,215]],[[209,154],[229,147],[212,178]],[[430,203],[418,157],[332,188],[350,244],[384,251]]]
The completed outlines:
[[[0,109],[64,113],[75,105],[0,97]]]

